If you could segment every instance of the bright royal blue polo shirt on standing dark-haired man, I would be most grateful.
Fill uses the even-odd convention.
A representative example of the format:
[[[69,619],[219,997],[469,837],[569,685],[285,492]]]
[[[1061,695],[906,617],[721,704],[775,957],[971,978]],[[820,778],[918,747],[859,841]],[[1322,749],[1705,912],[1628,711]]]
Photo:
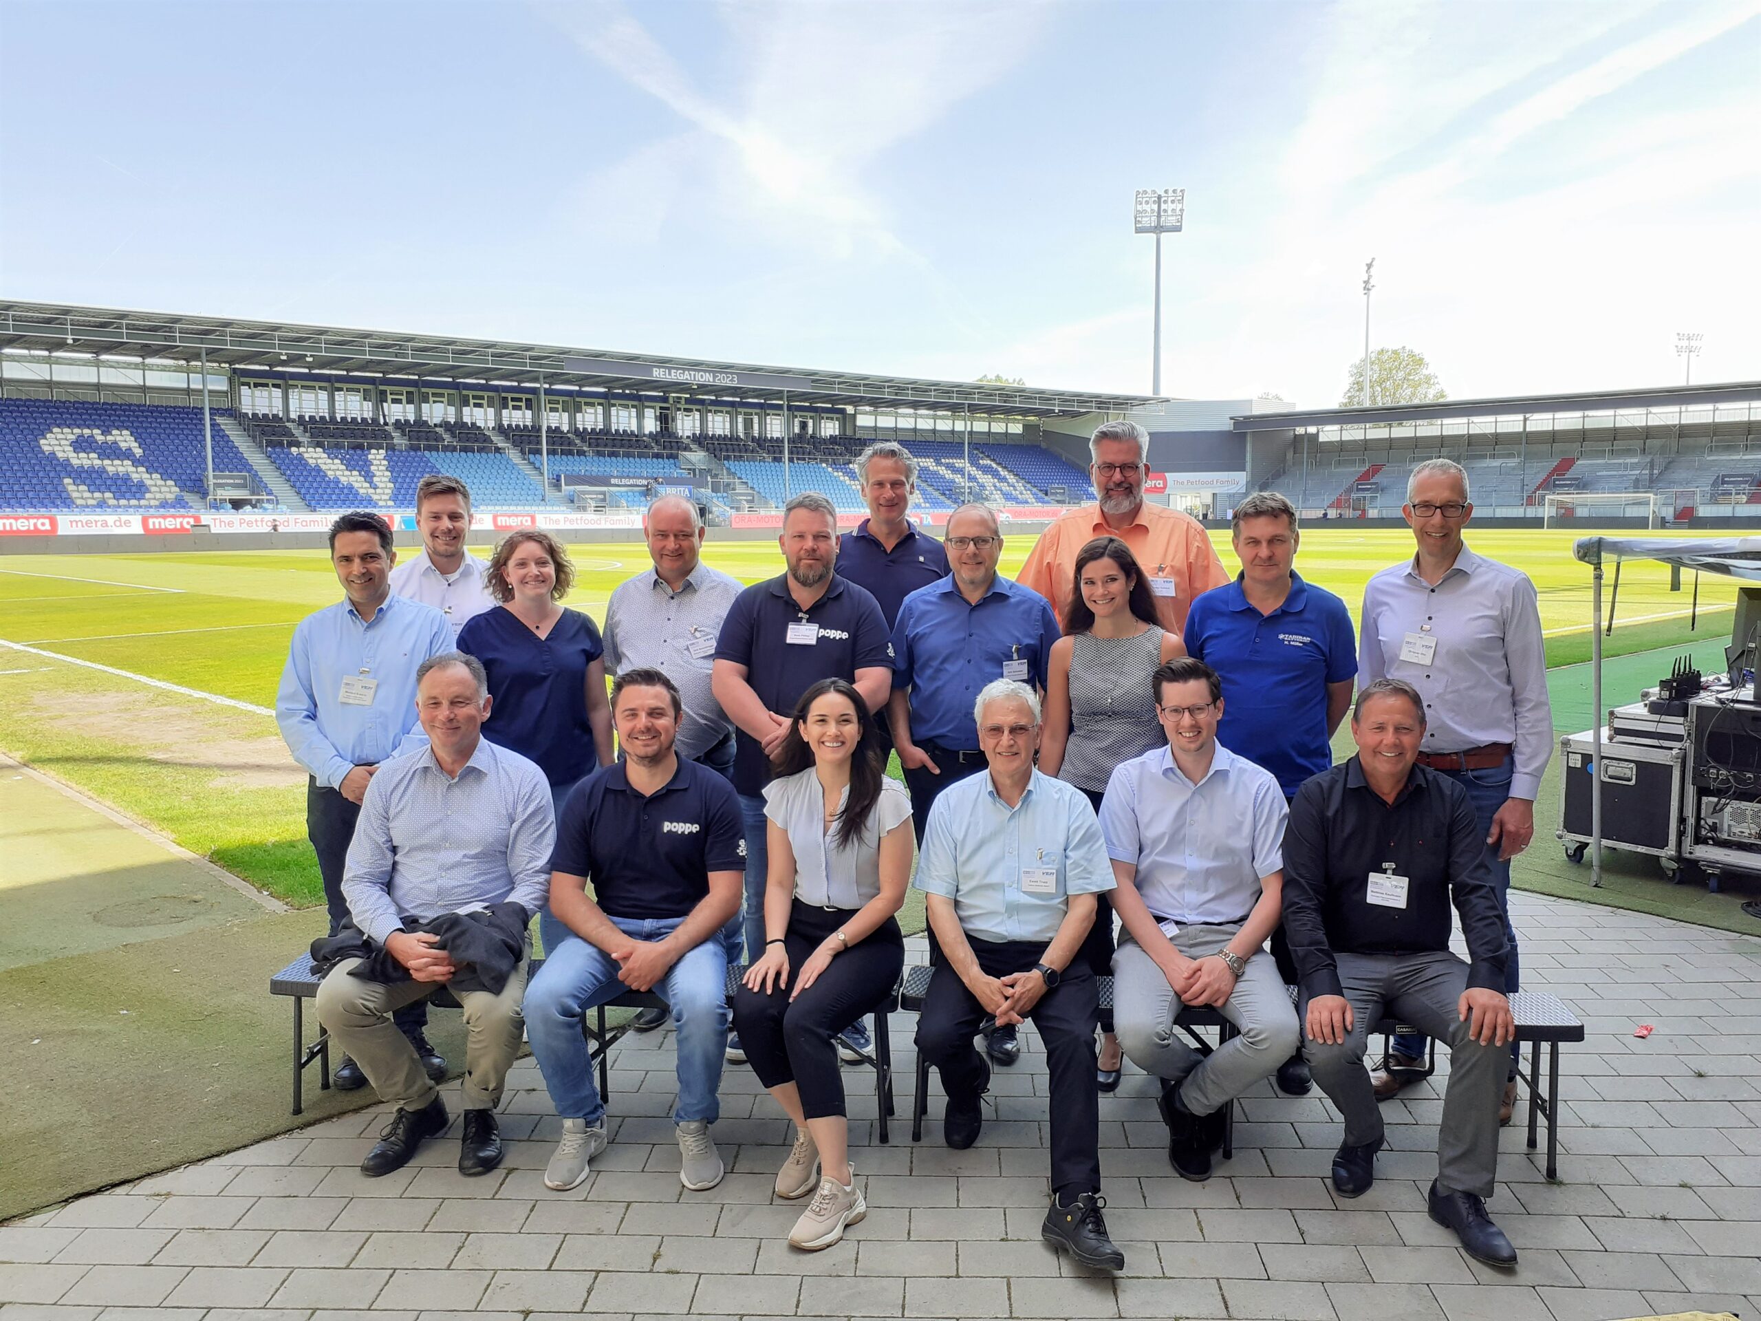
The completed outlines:
[[[1286,798],[1333,764],[1326,685],[1358,673],[1344,601],[1293,572],[1284,604],[1261,615],[1236,576],[1192,599],[1183,639],[1222,676],[1219,743],[1277,775]]]

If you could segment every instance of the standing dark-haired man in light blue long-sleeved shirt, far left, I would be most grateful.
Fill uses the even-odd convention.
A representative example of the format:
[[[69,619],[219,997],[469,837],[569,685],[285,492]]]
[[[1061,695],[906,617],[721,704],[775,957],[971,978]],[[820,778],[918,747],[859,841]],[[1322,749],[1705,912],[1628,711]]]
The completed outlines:
[[[275,694],[275,722],[294,761],[306,768],[306,837],[319,856],[331,935],[349,916],[342,895],[343,861],[361,815],[366,784],[416,726],[416,668],[453,648],[453,631],[433,606],[391,594],[398,553],[379,514],[340,514],[329,530],[331,565],[343,599],[308,615]],[[446,1078],[446,1059],[423,1037],[428,1007],[398,1015],[423,1067]],[[352,1092],[366,1078],[343,1057],[336,1087]]]

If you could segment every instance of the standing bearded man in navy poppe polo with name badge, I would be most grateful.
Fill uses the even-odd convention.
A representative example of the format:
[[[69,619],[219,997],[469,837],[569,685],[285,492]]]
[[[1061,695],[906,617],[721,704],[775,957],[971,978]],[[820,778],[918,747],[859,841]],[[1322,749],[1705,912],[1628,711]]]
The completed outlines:
[[[893,646],[875,599],[835,569],[838,511],[803,491],[782,514],[785,572],[734,597],[722,620],[710,687],[738,733],[734,789],[747,831],[747,962],[764,953],[764,786],[770,759],[791,727],[791,712],[822,678],[854,683],[880,710],[893,692]],[[736,1037],[729,1059],[745,1060]]]

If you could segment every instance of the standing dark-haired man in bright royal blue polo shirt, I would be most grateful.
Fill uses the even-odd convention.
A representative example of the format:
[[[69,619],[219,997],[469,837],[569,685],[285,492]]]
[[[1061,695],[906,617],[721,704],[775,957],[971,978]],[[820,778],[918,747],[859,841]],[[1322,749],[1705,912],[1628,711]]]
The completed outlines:
[[[1289,801],[1303,780],[1333,764],[1333,731],[1351,706],[1358,643],[1345,602],[1291,567],[1301,534],[1289,500],[1277,491],[1249,495],[1234,507],[1231,541],[1242,572],[1192,601],[1187,655],[1222,676],[1217,742],[1277,775]],[[1271,955],[1294,986],[1282,926]],[[1301,1052],[1278,1067],[1278,1087],[1291,1096],[1308,1092]]]

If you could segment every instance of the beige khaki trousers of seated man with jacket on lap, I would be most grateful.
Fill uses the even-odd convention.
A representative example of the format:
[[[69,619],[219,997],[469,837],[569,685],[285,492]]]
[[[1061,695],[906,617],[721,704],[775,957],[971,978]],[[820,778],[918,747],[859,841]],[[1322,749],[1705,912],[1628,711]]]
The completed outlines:
[[[396,1029],[391,1015],[440,988],[431,981],[382,983],[349,976],[359,962],[343,960],[319,983],[319,1022],[361,1066],[380,1101],[400,1110],[421,1110],[438,1096],[438,1089],[428,1081],[416,1046]],[[465,1009],[465,1110],[495,1110],[502,1099],[502,1083],[525,1034],[519,1002],[527,993],[530,963],[528,946],[500,995],[456,992]]]

